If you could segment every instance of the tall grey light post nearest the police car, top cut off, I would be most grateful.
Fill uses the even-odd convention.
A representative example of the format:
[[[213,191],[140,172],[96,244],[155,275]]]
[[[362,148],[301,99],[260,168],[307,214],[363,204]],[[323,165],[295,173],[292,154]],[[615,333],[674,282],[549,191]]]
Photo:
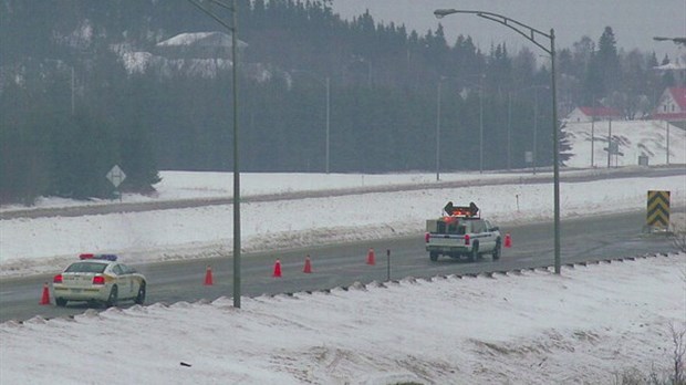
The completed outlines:
[[[219,0],[206,1],[231,11],[232,23],[229,24],[200,4],[199,1],[201,0],[188,1],[231,32],[231,79],[233,82],[233,306],[240,308],[240,167],[238,166],[238,54],[236,49],[238,45],[238,8],[236,7],[236,0],[231,0],[230,6]]]

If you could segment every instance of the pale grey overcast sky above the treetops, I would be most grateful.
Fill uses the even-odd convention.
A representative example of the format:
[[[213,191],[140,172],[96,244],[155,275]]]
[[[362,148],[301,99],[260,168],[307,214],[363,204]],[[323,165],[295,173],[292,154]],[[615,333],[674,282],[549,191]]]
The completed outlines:
[[[491,42],[503,41],[510,52],[523,45],[538,50],[508,28],[475,15],[453,14],[439,21],[433,14],[439,8],[490,11],[545,32],[552,28],[558,49],[571,48],[583,35],[597,42],[610,25],[617,46],[625,51],[655,51],[662,60],[665,53],[674,59],[686,50],[653,41],[656,35],[686,37],[686,0],[333,0],[334,11],[345,19],[368,9],[375,21],[405,24],[419,34],[435,30],[440,22],[450,44],[461,33],[472,37],[487,52]]]

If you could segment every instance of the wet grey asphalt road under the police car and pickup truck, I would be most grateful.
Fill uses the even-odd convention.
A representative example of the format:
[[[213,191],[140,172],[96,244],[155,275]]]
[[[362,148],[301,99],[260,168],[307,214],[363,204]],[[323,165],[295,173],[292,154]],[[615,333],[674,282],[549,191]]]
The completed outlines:
[[[683,211],[683,209],[680,209]],[[676,247],[665,236],[644,235],[645,212],[561,221],[561,261],[568,263],[637,257],[648,253],[675,252]],[[354,282],[398,280],[406,277],[430,278],[448,274],[470,274],[510,271],[553,266],[552,222],[501,228],[510,232],[512,247],[503,249],[499,261],[489,256],[476,262],[441,257],[432,262],[424,250],[424,235],[378,240],[364,243],[325,246],[302,250],[274,250],[248,253],[241,258],[241,294],[293,293],[346,288]],[[367,250],[375,251],[375,264],[367,264]],[[312,273],[304,273],[309,254]],[[272,277],[274,262],[281,262],[281,278]],[[214,284],[204,285],[206,268],[210,266]],[[200,299],[232,298],[233,261],[230,257],[135,266],[148,280],[146,303]],[[55,272],[56,273],[56,272]],[[564,274],[564,269],[562,270]],[[0,280],[0,322],[25,321],[82,313],[86,304],[70,303],[66,308],[40,305],[44,282],[52,277],[28,277]],[[54,299],[51,295],[51,300]],[[132,303],[122,303],[122,308]],[[102,309],[102,308],[101,308]]]

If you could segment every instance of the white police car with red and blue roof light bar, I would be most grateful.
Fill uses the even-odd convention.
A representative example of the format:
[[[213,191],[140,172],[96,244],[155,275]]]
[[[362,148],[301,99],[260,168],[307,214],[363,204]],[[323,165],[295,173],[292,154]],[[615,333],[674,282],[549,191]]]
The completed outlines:
[[[58,306],[65,306],[69,301],[98,302],[107,308],[116,306],[121,300],[143,304],[145,277],[117,262],[117,256],[85,253],[79,259],[52,281]]]

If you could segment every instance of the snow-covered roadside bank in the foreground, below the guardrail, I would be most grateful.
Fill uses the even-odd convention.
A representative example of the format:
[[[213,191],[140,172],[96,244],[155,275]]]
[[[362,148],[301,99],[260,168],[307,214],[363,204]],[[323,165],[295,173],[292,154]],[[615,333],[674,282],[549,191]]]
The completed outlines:
[[[686,254],[0,324],[2,384],[613,384],[669,373]]]

